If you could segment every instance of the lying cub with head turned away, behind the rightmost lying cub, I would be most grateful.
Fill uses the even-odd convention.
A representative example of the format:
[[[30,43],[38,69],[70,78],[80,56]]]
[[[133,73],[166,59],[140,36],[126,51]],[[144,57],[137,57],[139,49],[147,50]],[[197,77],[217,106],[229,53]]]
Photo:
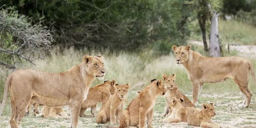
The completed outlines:
[[[196,109],[193,107],[185,108],[182,105],[182,102],[184,102],[182,98],[180,99],[173,98],[169,108],[172,110],[172,113],[170,114],[169,117],[161,120],[161,122],[164,122],[164,123],[187,122],[189,115],[194,114]]]

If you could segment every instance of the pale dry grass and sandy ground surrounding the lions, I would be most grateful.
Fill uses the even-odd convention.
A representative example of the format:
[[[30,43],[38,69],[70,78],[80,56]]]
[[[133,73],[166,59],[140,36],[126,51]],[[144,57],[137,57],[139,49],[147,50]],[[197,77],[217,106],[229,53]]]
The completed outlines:
[[[256,44],[256,29],[255,27],[243,25],[239,22],[220,21],[219,31],[221,34],[222,44],[239,44],[239,45],[255,45]],[[193,27],[193,26],[192,26]],[[199,40],[200,35],[193,35],[191,40]],[[192,44],[192,49],[199,51],[200,53],[206,55],[203,52],[203,47],[199,45]],[[137,90],[143,89],[150,83],[150,79],[155,77],[161,79],[162,74],[171,75],[176,74],[176,84],[186,96],[191,99],[192,96],[192,86],[188,79],[186,70],[182,65],[175,64],[175,58],[172,53],[169,55],[156,56],[154,51],[145,50],[140,53],[111,53],[110,51],[90,51],[81,50],[77,51],[73,48],[66,49],[63,52],[55,47],[50,51],[51,56],[45,58],[45,60],[38,60],[36,62],[37,66],[29,67],[30,69],[36,69],[46,72],[63,72],[73,65],[76,65],[82,61],[84,54],[97,55],[102,54],[104,56],[104,63],[106,68],[105,79],[112,80],[115,79],[118,83],[131,84],[131,88],[128,93],[127,105],[129,102],[137,96]],[[226,50],[223,52],[224,56],[243,56],[248,58],[254,65],[254,70],[256,72],[256,58],[250,53],[241,53],[239,50],[230,51],[228,53]],[[19,66],[19,69],[24,68]],[[28,67],[26,67],[28,68]],[[5,79],[11,71],[6,69],[1,69],[0,72],[1,79]],[[205,84],[203,90],[199,97],[199,105],[202,103],[214,102],[215,110],[217,115],[213,120],[221,124],[225,128],[255,128],[256,127],[256,86],[253,83],[251,75],[249,77],[249,88],[253,92],[253,98],[249,108],[239,109],[238,104],[242,103],[243,96],[237,85],[228,79],[223,83]],[[3,82],[1,83],[1,88],[3,89]],[[95,86],[103,81],[95,79],[92,86]],[[0,95],[2,97],[3,94]],[[185,128],[191,127],[187,123],[173,123],[165,124],[159,122],[160,119],[164,117],[161,116],[163,113],[163,108],[165,106],[165,98],[159,96],[156,106],[154,108],[154,127],[173,127],[173,128]],[[41,107],[40,107],[41,108]],[[97,106],[97,112],[99,111],[100,104]],[[68,106],[64,107],[65,111],[69,113]],[[3,116],[0,116],[0,127],[9,127],[9,119],[11,114],[10,99],[8,100],[6,107],[4,109]],[[90,115],[90,109],[86,110],[86,115]],[[22,127],[25,128],[35,128],[35,127],[49,127],[49,128],[68,128],[70,127],[70,119],[46,119],[42,117],[34,117],[29,115],[23,118]],[[107,124],[109,125],[109,124]],[[98,125],[95,118],[79,118],[79,127],[94,128],[94,127],[105,127],[106,125]]]

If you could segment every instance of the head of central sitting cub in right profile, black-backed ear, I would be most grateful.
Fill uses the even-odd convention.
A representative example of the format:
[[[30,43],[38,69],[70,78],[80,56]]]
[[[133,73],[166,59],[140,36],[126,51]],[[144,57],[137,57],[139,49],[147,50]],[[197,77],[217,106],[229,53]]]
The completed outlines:
[[[166,93],[166,89],[163,86],[163,83],[161,80],[157,81],[157,79],[155,78],[151,79],[151,87],[154,88],[155,92],[158,95],[164,95]]]

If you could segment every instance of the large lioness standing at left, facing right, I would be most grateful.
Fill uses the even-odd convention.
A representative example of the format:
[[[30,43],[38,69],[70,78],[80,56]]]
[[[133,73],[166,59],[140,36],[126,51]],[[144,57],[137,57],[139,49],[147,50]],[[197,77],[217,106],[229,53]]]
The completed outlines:
[[[33,99],[44,106],[70,106],[71,127],[78,124],[81,103],[86,99],[89,86],[95,79],[103,78],[105,69],[102,56],[83,57],[83,62],[66,72],[48,73],[36,70],[17,70],[9,75],[4,88],[0,115],[3,112],[10,88],[12,116],[10,126],[20,128],[29,101]]]

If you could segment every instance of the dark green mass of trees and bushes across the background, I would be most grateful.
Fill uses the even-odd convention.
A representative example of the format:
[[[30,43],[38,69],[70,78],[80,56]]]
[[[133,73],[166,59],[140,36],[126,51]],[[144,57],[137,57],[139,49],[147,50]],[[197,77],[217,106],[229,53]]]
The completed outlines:
[[[44,16],[65,47],[134,50],[158,40],[184,44],[192,0],[2,0],[19,13]]]

